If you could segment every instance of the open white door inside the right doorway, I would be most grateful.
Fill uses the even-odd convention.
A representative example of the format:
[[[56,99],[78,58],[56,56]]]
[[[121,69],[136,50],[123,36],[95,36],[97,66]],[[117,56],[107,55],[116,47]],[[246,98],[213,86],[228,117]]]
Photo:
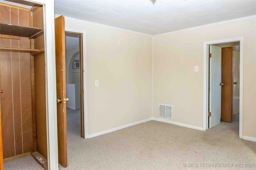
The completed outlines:
[[[221,47],[210,45],[210,90],[209,90],[209,128],[220,123],[221,117]]]

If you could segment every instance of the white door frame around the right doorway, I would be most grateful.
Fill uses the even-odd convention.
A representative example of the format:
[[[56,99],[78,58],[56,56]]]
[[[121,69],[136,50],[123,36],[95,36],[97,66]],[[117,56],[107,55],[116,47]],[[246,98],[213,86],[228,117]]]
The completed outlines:
[[[232,43],[240,41],[240,99],[239,99],[239,138],[243,138],[243,88],[244,88],[244,37],[236,37],[231,39],[221,39],[215,41],[204,42],[204,91],[203,91],[203,129],[208,129],[208,91],[209,91],[209,45],[220,43]]]

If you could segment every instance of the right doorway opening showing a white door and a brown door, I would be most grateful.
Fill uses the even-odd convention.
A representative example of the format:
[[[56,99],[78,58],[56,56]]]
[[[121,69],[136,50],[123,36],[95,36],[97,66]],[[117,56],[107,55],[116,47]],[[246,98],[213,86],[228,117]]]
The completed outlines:
[[[209,46],[209,128],[239,113],[240,42]],[[238,115],[236,116],[238,117]]]

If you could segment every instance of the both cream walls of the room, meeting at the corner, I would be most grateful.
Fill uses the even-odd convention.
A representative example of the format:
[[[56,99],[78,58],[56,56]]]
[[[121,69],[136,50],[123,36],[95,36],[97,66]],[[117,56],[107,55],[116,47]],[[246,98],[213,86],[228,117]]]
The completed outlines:
[[[86,31],[88,134],[150,118],[152,37],[67,18],[66,27]],[[159,103],[171,104],[173,121],[202,128],[203,43],[241,36],[243,135],[256,137],[255,17],[154,36],[153,117]]]

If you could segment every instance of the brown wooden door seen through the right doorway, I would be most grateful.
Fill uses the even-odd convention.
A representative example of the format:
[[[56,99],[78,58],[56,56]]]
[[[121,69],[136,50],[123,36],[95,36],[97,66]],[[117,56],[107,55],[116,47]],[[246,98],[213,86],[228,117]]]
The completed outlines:
[[[222,48],[221,120],[233,120],[233,47]]]

